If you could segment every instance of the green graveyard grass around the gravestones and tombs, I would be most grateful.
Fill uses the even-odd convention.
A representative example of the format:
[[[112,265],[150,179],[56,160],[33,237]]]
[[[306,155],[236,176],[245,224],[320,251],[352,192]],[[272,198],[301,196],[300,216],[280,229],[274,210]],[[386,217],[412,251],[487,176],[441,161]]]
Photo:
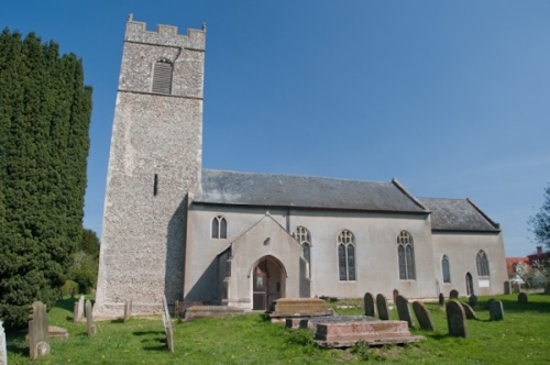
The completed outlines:
[[[86,322],[73,322],[73,303],[65,299],[50,312],[50,324],[66,328],[67,341],[51,340],[51,354],[29,358],[24,334],[8,335],[8,363],[14,364],[513,364],[550,363],[550,296],[529,295],[519,305],[517,295],[496,296],[504,303],[504,321],[488,321],[486,301],[480,297],[474,310],[480,320],[468,320],[468,339],[448,334],[444,311],[437,302],[427,303],[435,332],[414,329],[426,341],[406,346],[370,349],[355,345],[348,350],[315,346],[308,330],[285,330],[262,314],[251,313],[227,319],[174,321],[175,352],[166,349],[161,317],[132,318],[128,322],[96,322],[98,333],[88,338]],[[465,298],[461,298],[465,301]],[[333,303],[340,316],[362,314],[362,300]],[[392,319],[397,319],[395,308]],[[418,328],[416,318],[414,324]]]

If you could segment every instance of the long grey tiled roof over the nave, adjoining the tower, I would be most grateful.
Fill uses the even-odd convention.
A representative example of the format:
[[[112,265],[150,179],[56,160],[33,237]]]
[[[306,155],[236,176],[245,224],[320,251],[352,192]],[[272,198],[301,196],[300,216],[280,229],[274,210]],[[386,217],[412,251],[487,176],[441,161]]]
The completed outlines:
[[[202,170],[195,202],[427,213],[398,182]]]

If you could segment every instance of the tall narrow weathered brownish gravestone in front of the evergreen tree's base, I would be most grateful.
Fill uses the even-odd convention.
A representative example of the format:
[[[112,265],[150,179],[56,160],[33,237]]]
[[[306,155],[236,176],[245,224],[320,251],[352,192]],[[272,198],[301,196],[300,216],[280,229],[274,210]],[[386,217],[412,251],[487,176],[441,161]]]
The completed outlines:
[[[50,354],[46,306],[41,301],[29,308],[29,353],[31,360]]]

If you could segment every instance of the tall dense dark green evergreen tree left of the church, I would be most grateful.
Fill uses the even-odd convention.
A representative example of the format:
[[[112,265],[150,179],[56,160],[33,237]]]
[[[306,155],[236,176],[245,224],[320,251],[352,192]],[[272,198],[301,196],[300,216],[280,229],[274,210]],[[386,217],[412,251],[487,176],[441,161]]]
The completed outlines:
[[[0,318],[55,303],[82,235],[91,88],[81,60],[0,34]]]

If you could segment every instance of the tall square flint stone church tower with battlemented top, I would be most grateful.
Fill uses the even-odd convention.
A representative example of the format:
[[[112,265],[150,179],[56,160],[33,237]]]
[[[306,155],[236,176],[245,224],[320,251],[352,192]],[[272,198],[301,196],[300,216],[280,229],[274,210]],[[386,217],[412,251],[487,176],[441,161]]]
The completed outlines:
[[[95,316],[182,299],[186,196],[200,192],[206,30],[127,23]]]

